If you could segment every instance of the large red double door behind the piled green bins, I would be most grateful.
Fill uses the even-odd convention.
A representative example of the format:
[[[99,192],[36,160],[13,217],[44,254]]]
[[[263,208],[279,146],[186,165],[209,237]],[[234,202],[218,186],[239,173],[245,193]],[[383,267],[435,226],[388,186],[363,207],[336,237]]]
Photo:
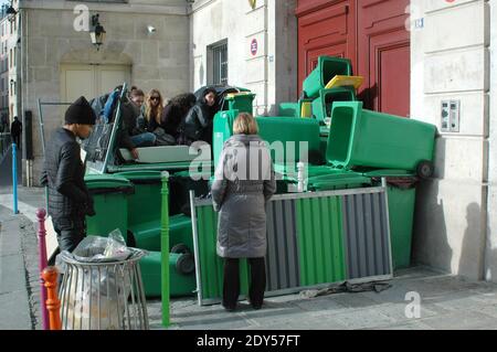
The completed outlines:
[[[409,116],[409,0],[299,0],[298,82],[319,55],[348,57],[364,76],[359,98],[364,107]]]

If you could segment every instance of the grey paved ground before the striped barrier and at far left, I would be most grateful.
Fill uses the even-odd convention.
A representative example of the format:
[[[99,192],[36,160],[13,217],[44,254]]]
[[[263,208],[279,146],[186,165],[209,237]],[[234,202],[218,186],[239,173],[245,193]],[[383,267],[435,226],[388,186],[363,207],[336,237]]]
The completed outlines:
[[[3,193],[3,194],[2,194]],[[20,215],[0,190],[0,329],[41,329],[38,247],[33,221],[44,206],[43,189],[20,188]],[[497,284],[467,281],[425,267],[395,273],[380,294],[299,295],[267,298],[262,310],[246,301],[234,313],[220,305],[199,307],[194,297],[171,300],[171,330],[495,329]],[[421,317],[405,311],[408,292],[421,298]],[[411,306],[410,306],[411,307]],[[151,329],[161,327],[161,303],[148,301]]]

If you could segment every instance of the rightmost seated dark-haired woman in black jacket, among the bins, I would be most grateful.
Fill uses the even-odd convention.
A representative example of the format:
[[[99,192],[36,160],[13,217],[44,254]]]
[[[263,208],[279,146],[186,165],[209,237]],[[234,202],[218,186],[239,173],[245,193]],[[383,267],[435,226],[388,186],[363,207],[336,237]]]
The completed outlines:
[[[212,120],[215,114],[215,89],[207,88],[202,97],[188,111],[180,126],[180,145],[190,146],[197,140],[212,145]]]

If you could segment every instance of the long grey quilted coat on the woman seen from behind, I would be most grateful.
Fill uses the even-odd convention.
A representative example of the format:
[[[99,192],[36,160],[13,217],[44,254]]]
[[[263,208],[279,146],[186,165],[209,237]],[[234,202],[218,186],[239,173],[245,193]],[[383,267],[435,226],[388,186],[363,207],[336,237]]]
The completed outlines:
[[[234,135],[224,143],[212,183],[219,211],[220,257],[266,255],[266,203],[276,191],[271,154],[257,135]]]

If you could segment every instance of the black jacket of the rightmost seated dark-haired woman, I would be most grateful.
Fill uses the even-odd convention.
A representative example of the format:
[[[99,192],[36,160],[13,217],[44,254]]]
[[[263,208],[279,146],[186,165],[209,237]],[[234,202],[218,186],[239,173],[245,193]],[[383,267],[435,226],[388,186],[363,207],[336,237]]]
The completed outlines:
[[[208,143],[212,142],[212,120],[214,114],[215,109],[204,102],[198,102],[188,111],[181,125],[181,134],[187,140],[187,143],[195,140],[203,140]]]

